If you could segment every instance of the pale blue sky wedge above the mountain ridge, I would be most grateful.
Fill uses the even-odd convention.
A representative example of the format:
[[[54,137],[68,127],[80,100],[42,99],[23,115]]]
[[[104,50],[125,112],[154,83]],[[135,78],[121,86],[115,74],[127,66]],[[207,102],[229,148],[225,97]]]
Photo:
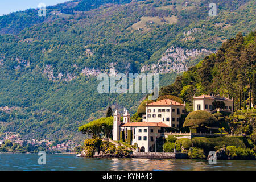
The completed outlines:
[[[29,8],[37,8],[39,3],[44,3],[46,6],[57,5],[68,0],[0,0],[0,16],[6,15],[19,10]]]

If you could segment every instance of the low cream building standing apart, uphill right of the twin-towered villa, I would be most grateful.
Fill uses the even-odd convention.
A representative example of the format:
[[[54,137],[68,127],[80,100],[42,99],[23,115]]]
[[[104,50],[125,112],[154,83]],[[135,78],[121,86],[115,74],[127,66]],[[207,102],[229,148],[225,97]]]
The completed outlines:
[[[215,103],[224,102],[223,108],[220,108],[219,106],[214,106]],[[197,97],[193,97],[193,109],[196,110],[205,110],[209,111],[210,113],[213,113],[214,111],[217,111],[216,109],[220,109],[220,111],[226,111],[226,112],[233,112],[234,110],[234,101],[233,98],[226,98],[221,97],[220,95],[217,96],[209,96],[209,95],[201,95]]]

